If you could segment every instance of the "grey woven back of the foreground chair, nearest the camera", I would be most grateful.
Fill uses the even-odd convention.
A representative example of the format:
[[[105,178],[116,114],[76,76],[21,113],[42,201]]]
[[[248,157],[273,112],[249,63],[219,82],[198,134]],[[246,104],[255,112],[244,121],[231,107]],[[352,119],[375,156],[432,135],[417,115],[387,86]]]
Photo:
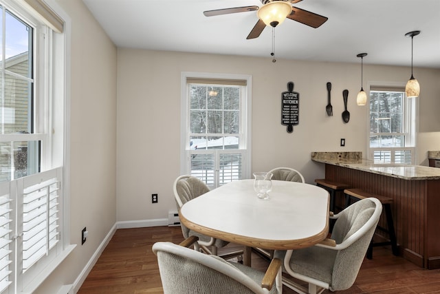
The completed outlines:
[[[261,288],[234,265],[170,242],[153,245],[164,294],[276,293]],[[264,275],[264,273],[262,273]]]

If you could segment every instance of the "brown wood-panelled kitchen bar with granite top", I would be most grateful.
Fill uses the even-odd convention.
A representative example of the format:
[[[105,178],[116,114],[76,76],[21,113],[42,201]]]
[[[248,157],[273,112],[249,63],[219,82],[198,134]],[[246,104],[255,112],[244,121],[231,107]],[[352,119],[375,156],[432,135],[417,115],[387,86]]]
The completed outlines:
[[[325,164],[328,180],[393,198],[399,254],[425,269],[440,269],[439,168],[375,164],[362,152],[312,152],[311,159]],[[336,198],[338,204],[343,207],[343,200]],[[386,227],[382,218],[380,226]]]

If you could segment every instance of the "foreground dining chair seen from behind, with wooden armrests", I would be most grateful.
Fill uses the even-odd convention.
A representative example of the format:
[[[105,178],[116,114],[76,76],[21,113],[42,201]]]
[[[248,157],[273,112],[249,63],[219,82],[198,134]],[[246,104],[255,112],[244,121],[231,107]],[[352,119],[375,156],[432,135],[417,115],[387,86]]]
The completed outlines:
[[[179,245],[171,242],[153,244],[164,294],[281,294],[281,260],[272,260],[263,273],[216,255],[186,248],[192,242],[197,242],[196,236]]]

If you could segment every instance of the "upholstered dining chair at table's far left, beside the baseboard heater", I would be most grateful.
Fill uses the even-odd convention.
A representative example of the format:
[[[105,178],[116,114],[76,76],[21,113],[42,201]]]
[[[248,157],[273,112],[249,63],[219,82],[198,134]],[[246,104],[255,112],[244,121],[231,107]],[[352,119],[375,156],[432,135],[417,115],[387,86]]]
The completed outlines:
[[[180,210],[180,208],[186,202],[203,195],[204,193],[210,191],[210,189],[199,178],[184,175],[176,178],[173,185],[173,191],[177,209]],[[229,244],[229,242],[224,240],[212,238],[192,231],[185,227],[184,224],[180,224],[180,227],[184,238],[188,238],[192,235],[197,236],[198,240],[194,243],[195,250],[197,251],[202,250],[208,254],[218,255],[218,249]],[[224,259],[238,258],[238,260],[241,262],[243,260],[243,250],[220,255],[220,257]]]

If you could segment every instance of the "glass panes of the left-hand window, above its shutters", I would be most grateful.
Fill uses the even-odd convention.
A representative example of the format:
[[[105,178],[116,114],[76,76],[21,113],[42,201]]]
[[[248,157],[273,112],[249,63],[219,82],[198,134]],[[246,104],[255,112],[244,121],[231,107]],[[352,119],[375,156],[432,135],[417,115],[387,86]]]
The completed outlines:
[[[21,134],[17,140],[0,142],[0,180],[13,180],[39,169],[39,145],[34,134],[34,29],[2,7],[1,34],[5,50],[0,74],[1,134]],[[4,66],[3,66],[4,65]]]

